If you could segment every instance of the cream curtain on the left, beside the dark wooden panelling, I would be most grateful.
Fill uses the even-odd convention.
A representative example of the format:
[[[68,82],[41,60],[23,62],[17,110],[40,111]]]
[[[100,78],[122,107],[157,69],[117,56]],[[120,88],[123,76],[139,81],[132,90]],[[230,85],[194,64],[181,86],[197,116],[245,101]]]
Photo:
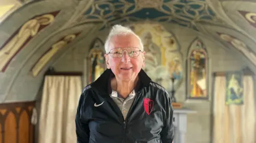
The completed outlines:
[[[82,91],[79,76],[46,76],[39,119],[39,143],[76,142],[75,114]]]

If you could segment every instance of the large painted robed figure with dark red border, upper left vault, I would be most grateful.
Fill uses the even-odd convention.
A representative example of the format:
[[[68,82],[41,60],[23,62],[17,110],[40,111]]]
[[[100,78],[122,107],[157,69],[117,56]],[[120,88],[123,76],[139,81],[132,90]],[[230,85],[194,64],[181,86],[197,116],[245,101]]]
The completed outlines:
[[[42,29],[49,26],[59,11],[37,15],[13,33],[13,35],[0,47],[0,71],[5,72],[7,66],[22,48],[33,39]]]

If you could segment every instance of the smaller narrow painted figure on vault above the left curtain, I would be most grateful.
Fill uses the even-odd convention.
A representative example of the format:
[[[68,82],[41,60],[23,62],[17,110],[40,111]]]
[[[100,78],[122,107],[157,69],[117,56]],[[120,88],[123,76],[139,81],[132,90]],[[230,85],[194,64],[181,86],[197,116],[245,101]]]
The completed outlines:
[[[39,60],[36,62],[36,64],[31,69],[33,76],[36,77],[41,72],[41,70],[44,68],[44,66],[51,60],[51,58],[57,52],[59,52],[61,49],[66,47],[78,35],[79,35],[79,33],[74,33],[74,34],[70,34],[65,37],[62,37],[59,41],[57,41],[49,49],[47,49],[47,51],[39,58]]]

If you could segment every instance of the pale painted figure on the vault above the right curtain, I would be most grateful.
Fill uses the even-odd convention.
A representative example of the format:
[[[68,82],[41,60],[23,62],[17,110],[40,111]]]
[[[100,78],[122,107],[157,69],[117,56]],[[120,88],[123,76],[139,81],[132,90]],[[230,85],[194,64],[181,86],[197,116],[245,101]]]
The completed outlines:
[[[256,54],[249,48],[242,40],[231,36],[227,33],[217,32],[221,40],[226,41],[228,44],[236,48],[239,52],[241,52],[245,57],[249,59],[254,65],[256,65]]]

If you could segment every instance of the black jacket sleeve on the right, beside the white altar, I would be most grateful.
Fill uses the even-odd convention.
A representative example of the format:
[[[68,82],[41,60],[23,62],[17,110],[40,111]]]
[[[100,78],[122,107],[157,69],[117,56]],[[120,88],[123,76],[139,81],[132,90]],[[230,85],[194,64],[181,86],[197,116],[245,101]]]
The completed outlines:
[[[161,131],[161,140],[165,143],[172,143],[174,138],[174,126],[173,126],[173,107],[169,94],[165,91],[165,115],[164,118],[164,127]]]

